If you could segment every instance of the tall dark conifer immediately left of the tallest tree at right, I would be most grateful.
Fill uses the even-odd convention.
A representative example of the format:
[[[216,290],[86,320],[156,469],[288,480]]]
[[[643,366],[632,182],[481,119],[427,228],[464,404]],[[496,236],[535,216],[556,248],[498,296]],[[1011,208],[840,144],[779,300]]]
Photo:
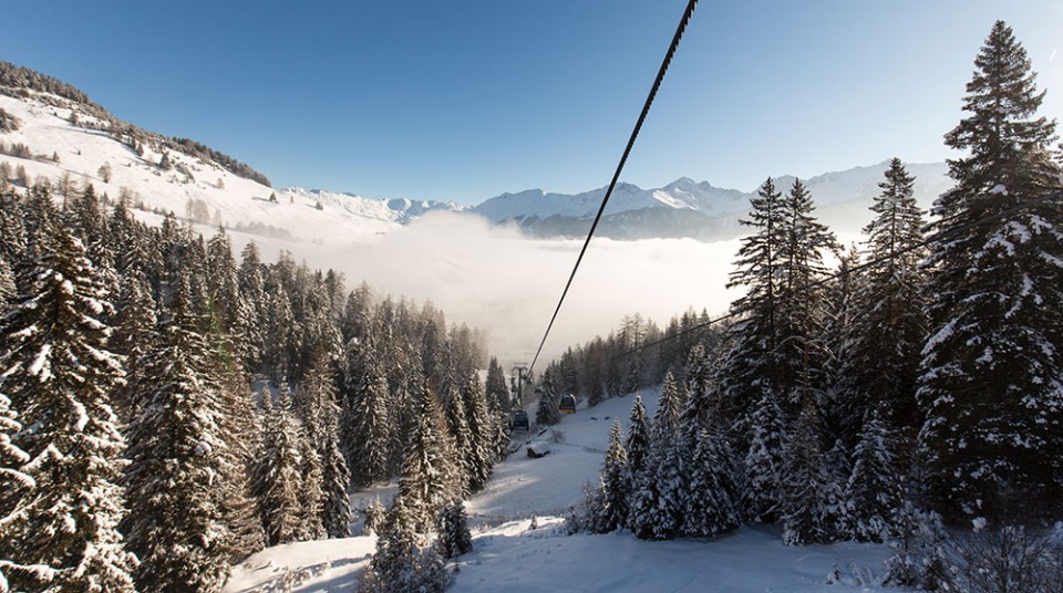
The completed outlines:
[[[855,284],[850,330],[840,373],[845,377],[844,415],[849,444],[867,409],[884,405],[884,422],[909,438],[921,423],[915,400],[919,352],[927,335],[923,313],[923,212],[916,205],[912,178],[898,158],[878,184],[864,228],[865,258],[881,261]]]

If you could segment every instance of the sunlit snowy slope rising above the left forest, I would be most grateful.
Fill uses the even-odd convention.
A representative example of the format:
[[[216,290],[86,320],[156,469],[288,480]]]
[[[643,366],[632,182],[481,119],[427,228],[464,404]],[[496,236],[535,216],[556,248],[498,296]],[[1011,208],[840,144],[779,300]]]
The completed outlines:
[[[292,242],[343,245],[372,240],[431,210],[457,209],[453,204],[275,190],[216,163],[152,143],[144,143],[143,154],[137,154],[115,135],[90,126],[106,123],[94,121],[84,106],[52,94],[0,93],[0,108],[20,123],[18,129],[0,134],[0,141],[7,146],[23,145],[32,155],[0,155],[0,163],[16,170],[23,167],[31,183],[63,176],[80,185],[91,183],[97,195],[125,196],[138,211],[173,211],[205,226],[223,223]],[[76,124],[71,123],[72,113]],[[172,164],[168,169],[159,166],[164,154]],[[274,196],[276,201],[270,199]]]

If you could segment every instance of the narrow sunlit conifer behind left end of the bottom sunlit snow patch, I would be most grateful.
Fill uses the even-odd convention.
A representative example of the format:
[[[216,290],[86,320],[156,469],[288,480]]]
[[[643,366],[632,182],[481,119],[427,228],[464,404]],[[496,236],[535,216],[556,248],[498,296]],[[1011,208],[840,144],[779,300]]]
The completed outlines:
[[[264,402],[270,397],[262,393]],[[291,394],[281,382],[280,398],[264,420],[262,451],[256,469],[254,491],[262,510],[262,528],[269,545],[296,541],[299,530],[302,438],[292,417]]]

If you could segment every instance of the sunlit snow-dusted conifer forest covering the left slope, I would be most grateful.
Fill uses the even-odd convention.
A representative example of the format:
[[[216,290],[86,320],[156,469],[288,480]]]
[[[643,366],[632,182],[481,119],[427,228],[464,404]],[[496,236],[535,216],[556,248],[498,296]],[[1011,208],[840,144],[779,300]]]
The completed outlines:
[[[218,591],[349,535],[351,485],[401,476],[426,531],[486,483],[508,439],[476,331],[64,197],[0,194],[0,590]]]

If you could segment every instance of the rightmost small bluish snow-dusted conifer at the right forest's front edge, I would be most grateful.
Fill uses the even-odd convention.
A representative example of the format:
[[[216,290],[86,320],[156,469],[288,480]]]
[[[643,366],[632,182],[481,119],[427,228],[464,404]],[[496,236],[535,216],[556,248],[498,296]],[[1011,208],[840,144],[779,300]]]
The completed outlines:
[[[846,488],[847,522],[857,541],[883,542],[895,534],[894,520],[902,507],[904,489],[894,443],[878,408],[869,409],[853,451],[853,475]]]

